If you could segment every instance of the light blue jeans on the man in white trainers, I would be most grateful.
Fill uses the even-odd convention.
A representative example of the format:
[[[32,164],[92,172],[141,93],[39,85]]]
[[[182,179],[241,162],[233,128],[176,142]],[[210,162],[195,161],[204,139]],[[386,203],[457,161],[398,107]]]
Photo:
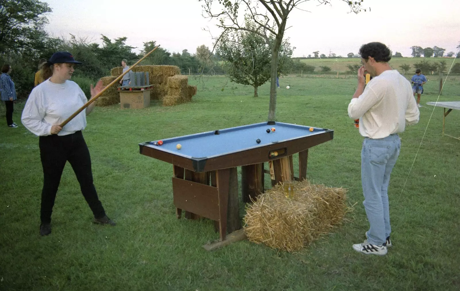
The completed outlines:
[[[399,157],[401,140],[397,134],[383,139],[364,138],[361,151],[361,180],[364,209],[370,224],[366,232],[368,242],[382,245],[390,236],[388,184],[390,174]]]

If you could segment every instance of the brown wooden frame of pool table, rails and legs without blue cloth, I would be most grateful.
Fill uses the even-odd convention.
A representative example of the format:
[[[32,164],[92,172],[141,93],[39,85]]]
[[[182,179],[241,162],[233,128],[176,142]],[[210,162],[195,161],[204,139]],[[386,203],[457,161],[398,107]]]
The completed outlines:
[[[303,180],[307,174],[308,149],[333,140],[334,131],[326,129],[314,135],[267,144],[255,149],[196,161],[161,151],[158,147],[139,144],[140,153],[173,164],[173,201],[176,216],[182,212],[189,219],[201,216],[215,221],[220,240],[226,233],[241,228],[236,167],[242,167],[242,200],[251,199],[264,191],[264,163],[271,162],[275,172],[272,185],[283,180]],[[281,156],[270,157],[280,151]],[[293,154],[299,153],[299,177],[293,176]],[[286,170],[288,168],[288,170]],[[282,173],[289,173],[283,175]]]

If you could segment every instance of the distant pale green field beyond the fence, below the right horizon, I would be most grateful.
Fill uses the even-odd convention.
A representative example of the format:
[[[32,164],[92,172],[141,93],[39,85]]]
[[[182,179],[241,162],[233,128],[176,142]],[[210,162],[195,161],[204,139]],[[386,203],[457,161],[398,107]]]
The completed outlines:
[[[429,62],[440,62],[446,61],[447,69],[449,70],[450,66],[454,62],[454,58],[391,58],[390,65],[395,69],[399,70],[401,73],[403,70],[399,66],[402,64],[408,64],[411,66],[409,72],[405,72],[406,76],[412,76],[415,74],[415,63],[420,63],[421,61],[429,61]],[[320,66],[328,66],[331,68],[331,71],[345,73],[349,69],[347,68],[348,64],[360,64],[360,58],[310,58],[310,59],[301,59],[301,62],[306,64],[312,65],[316,67],[316,71],[320,70]],[[455,59],[455,62],[459,62],[459,59]],[[431,75],[431,72],[423,72],[426,76]],[[445,74],[444,74],[445,75]]]

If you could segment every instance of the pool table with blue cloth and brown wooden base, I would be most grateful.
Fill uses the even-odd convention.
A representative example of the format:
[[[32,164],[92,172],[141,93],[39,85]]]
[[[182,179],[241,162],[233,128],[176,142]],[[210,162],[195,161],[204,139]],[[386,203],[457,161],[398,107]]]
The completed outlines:
[[[177,217],[184,210],[188,218],[212,219],[224,240],[227,231],[241,228],[236,167],[242,167],[243,202],[249,202],[264,191],[264,174],[270,174],[272,185],[305,179],[308,149],[333,138],[332,129],[269,121],[147,141],[139,150],[173,164]],[[293,176],[296,153],[299,177]],[[266,162],[270,170],[264,169]]]

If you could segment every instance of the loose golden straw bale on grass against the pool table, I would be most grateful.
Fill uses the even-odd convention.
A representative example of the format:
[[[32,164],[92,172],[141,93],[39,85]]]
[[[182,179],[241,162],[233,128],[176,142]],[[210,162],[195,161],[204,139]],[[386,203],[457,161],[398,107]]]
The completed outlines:
[[[347,190],[295,182],[289,198],[278,184],[247,206],[244,232],[249,241],[271,248],[297,251],[343,221]]]

